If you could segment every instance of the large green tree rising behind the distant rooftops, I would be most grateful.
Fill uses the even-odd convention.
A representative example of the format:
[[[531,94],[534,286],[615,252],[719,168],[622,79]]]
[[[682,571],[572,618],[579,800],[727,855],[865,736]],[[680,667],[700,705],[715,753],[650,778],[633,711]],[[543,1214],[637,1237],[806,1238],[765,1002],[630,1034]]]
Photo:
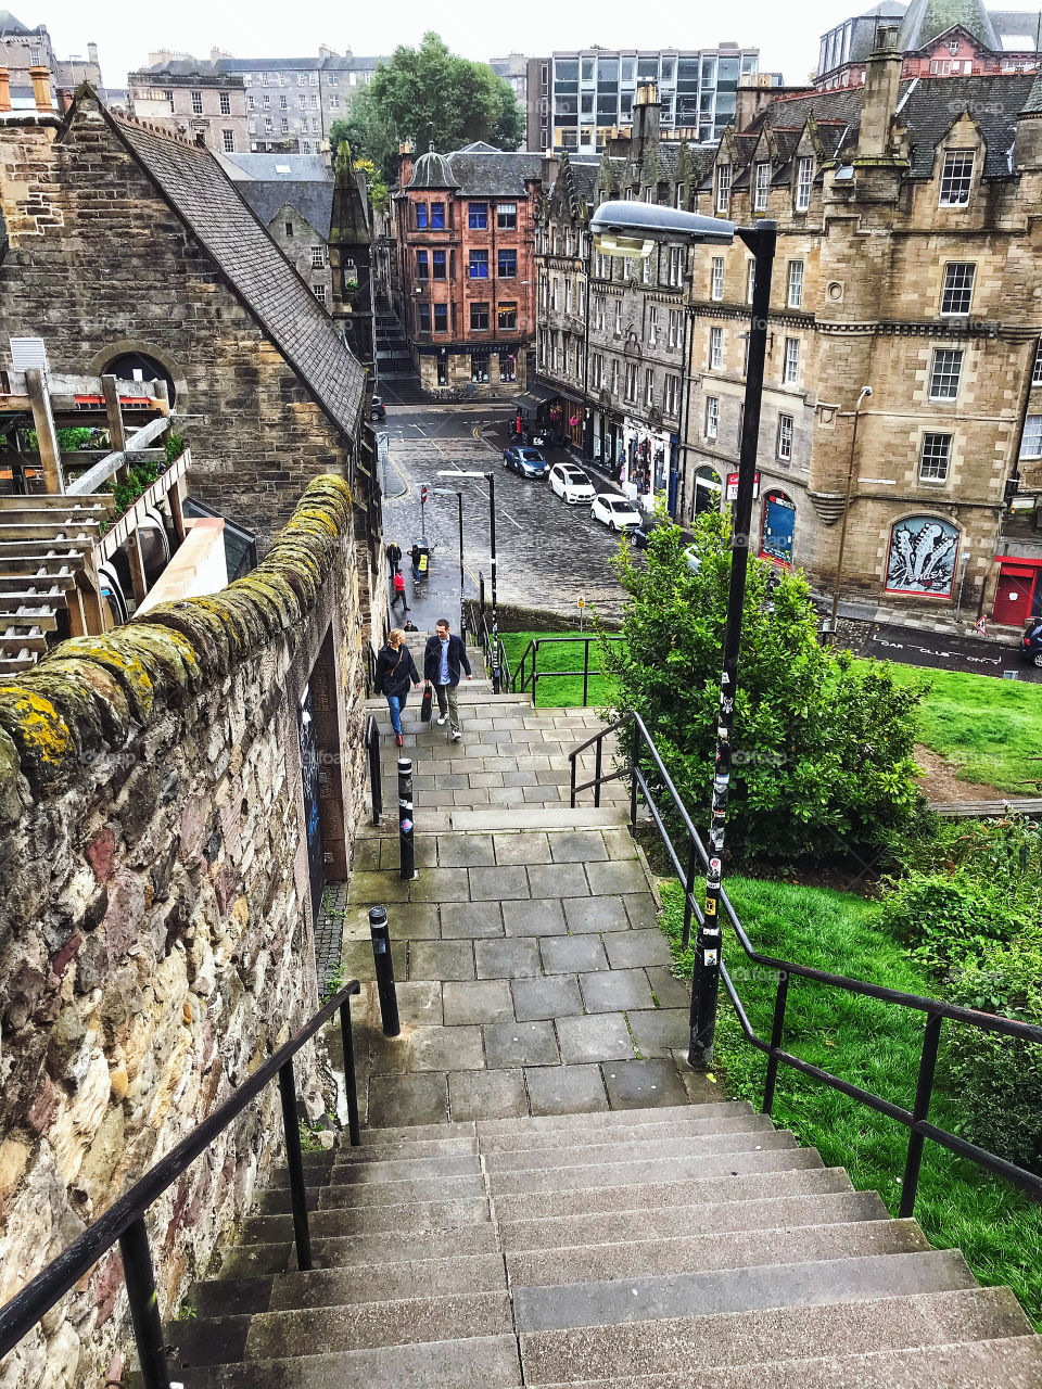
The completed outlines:
[[[379,64],[336,126],[335,139],[350,140],[356,156],[372,160],[390,183],[402,140],[411,139],[417,150],[433,142],[443,153],[472,140],[513,150],[524,115],[510,83],[488,64],[461,58],[436,33],[425,33],[418,49],[399,46]]]

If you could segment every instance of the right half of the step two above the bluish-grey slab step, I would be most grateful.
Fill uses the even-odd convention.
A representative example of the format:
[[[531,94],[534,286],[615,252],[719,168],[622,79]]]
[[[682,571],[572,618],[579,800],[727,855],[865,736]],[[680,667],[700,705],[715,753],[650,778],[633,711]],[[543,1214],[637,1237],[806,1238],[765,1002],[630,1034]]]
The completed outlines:
[[[596,1245],[606,1235],[613,1240],[643,1240],[667,1238],[684,1229],[716,1235],[866,1220],[888,1220],[886,1207],[875,1192],[821,1192],[816,1196],[778,1196],[722,1204],[704,1201],[702,1206],[653,1206],[614,1211],[610,1218],[593,1214],[503,1221],[499,1235],[507,1253],[522,1253]]]

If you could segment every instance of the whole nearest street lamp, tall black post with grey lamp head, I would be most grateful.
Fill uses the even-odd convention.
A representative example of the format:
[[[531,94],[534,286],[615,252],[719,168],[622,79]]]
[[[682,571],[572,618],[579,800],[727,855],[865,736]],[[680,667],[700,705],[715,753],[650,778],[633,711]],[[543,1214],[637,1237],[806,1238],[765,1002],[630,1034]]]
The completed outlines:
[[[738,497],[734,504],[731,532],[731,585],[724,629],[724,660],[720,675],[720,713],[717,715],[717,756],[713,772],[713,807],[709,831],[709,871],[706,874],[706,910],[695,946],[695,975],[690,986],[690,1040],[688,1061],[697,1070],[713,1064],[713,1040],[717,1026],[720,995],[720,901],[724,863],[727,801],[731,792],[731,735],[738,696],[738,656],[742,644],[742,608],[752,543],[753,479],[760,436],[764,361],[767,357],[767,319],[771,308],[771,269],[778,242],[778,224],[759,221],[754,226],[735,226],[718,217],[684,213],[656,203],[602,203],[590,218],[593,243],[602,256],[647,257],[656,243],[729,246],[735,238],[754,257],[753,304],[749,325],[749,356],[745,381],[745,410],[738,460]]]

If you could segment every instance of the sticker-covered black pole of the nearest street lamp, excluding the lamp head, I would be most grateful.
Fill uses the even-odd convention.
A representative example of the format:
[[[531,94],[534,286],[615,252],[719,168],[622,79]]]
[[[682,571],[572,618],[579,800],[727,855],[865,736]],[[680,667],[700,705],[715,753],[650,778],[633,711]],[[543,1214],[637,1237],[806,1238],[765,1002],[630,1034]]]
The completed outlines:
[[[742,447],[738,460],[738,497],[731,526],[731,588],[724,629],[724,665],[720,675],[720,713],[717,715],[717,756],[713,771],[713,810],[709,831],[709,874],[706,875],[706,913],[695,946],[695,974],[690,985],[690,1043],[688,1061],[696,1070],[713,1064],[713,1040],[717,1029],[720,993],[720,893],[724,864],[727,801],[731,790],[731,733],[738,694],[738,656],[742,646],[742,610],[745,579],[753,524],[753,483],[760,438],[764,363],[767,357],[767,321],[771,310],[771,271],[778,240],[777,222],[757,222],[738,235],[753,251],[753,313],[749,325],[749,365],[745,382]]]

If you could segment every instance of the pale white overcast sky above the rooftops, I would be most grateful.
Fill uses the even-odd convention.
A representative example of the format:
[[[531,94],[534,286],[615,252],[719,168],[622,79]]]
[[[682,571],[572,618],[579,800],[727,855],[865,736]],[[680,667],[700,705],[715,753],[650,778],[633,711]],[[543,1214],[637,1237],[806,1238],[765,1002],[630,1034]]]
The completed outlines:
[[[482,60],[595,43],[697,49],[734,40],[757,44],[761,68],[781,69],[786,82],[802,82],[817,61],[820,35],[860,8],[843,0],[803,0],[800,6],[732,0],[727,7],[656,6],[654,13],[652,7],[638,13],[640,7],[624,0],[603,0],[577,10],[565,8],[560,0],[525,0],[517,6],[486,4],[479,11],[474,3],[439,8],[415,0],[350,7],[318,3],[299,10],[271,0],[249,4],[178,0],[169,6],[4,0],[4,4],[10,4],[22,24],[46,24],[58,57],[85,54],[89,40],[97,43],[108,86],[124,86],[128,71],[143,65],[150,49],[176,49],[199,58],[208,57],[213,46],[242,58],[307,56],[320,43],[338,53],[346,49],[356,54],[390,53],[399,43],[418,43],[427,28],[436,28],[457,53]]]

